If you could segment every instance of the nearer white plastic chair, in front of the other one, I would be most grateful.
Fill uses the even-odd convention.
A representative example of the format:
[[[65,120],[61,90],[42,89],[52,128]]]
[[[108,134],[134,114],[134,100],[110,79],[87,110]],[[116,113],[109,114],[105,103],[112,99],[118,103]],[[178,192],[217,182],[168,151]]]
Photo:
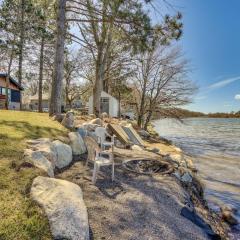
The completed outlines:
[[[85,137],[85,144],[88,150],[88,158],[86,165],[89,161],[94,163],[92,182],[95,184],[97,180],[97,173],[101,166],[112,165],[112,181],[114,180],[114,158],[112,148],[110,151],[101,151],[98,143],[92,137]],[[104,157],[108,156],[108,158]]]

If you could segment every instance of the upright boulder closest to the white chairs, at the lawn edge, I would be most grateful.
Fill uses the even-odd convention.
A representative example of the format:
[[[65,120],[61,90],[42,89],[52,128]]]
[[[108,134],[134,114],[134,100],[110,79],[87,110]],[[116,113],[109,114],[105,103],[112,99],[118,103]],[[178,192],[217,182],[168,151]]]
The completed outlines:
[[[68,134],[73,155],[80,155],[87,152],[85,143],[78,132]]]

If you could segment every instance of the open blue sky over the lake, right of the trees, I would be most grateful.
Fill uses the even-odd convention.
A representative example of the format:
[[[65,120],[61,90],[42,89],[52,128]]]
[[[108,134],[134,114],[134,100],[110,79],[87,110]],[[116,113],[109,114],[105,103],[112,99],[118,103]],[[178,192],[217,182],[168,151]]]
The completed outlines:
[[[190,110],[240,110],[240,0],[178,0],[184,33],[180,45],[199,86]]]

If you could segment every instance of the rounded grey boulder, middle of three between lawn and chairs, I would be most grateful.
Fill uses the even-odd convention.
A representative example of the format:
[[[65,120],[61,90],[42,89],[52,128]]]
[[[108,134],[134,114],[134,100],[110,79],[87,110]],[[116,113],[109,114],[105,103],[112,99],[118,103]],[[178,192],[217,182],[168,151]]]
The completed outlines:
[[[53,144],[57,152],[56,167],[61,169],[68,166],[72,162],[72,148],[59,140],[53,141]]]

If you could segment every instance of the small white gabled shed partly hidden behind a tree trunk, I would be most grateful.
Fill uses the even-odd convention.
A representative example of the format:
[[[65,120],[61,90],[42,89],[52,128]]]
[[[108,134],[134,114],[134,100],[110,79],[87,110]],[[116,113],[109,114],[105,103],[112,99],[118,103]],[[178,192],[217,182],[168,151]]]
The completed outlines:
[[[89,98],[88,114],[93,113],[93,96]],[[101,113],[106,112],[110,117],[118,117],[119,101],[110,94],[101,93]]]

